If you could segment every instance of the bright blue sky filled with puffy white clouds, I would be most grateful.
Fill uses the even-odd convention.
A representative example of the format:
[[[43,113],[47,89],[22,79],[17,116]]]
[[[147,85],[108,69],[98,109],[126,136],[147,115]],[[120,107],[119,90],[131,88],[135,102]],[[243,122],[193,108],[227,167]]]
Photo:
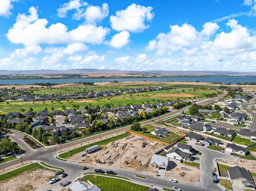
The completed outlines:
[[[0,69],[256,71],[256,0],[0,0]]]

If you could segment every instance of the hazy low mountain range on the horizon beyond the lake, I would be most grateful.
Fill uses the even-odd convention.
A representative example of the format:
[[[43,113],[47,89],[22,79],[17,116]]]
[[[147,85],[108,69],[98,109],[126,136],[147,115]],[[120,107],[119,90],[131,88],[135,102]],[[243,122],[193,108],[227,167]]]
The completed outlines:
[[[99,69],[70,69],[70,70],[0,70],[0,75],[37,75],[37,74],[156,74],[156,75],[256,75],[256,72],[233,72],[233,71],[123,71],[123,70],[99,70]]]

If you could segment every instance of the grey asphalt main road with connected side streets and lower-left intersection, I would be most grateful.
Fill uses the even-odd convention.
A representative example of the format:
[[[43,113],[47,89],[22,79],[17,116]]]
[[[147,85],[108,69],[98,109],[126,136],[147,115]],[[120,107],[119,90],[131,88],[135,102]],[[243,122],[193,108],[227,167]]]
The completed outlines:
[[[208,98],[206,100],[198,101],[197,104],[204,104],[206,102],[211,102],[211,101],[214,101],[214,100],[220,98],[221,96],[223,96],[223,95],[219,95],[219,96],[214,97],[214,98]],[[160,119],[164,119],[164,118],[173,116],[175,114],[179,114],[182,110],[184,110],[184,111],[188,110],[189,107],[190,106],[188,106],[186,108],[182,108],[180,110],[173,110],[170,113],[167,113],[167,114],[164,114],[164,115],[160,116]],[[157,117],[156,119],[158,120],[159,117]],[[152,119],[141,122],[141,124],[150,124],[151,122],[152,122]],[[104,132],[101,135],[97,134],[97,135],[90,136],[90,137],[87,137],[87,138],[82,138],[80,140],[76,140],[76,141],[73,141],[73,142],[67,142],[67,143],[62,144],[62,148],[71,148],[72,146],[75,146],[75,145],[81,144],[81,143],[84,145],[84,143],[93,142],[95,139],[100,138],[100,136],[101,137],[110,136],[111,134],[118,134],[118,133],[124,132],[125,130],[128,130],[128,129],[130,129],[130,126],[114,129],[114,130],[111,130],[109,132]],[[20,136],[20,138],[18,138],[18,140],[20,141],[21,138],[23,138],[23,136],[22,137]],[[16,142],[17,142],[17,140],[16,140]],[[33,151],[33,152],[28,152],[28,153],[24,154],[22,156],[22,159],[23,159],[23,161],[28,161],[28,160],[43,161],[44,163],[47,163],[49,165],[64,168],[66,173],[68,173],[69,175],[68,175],[68,177],[64,178],[63,180],[70,179],[70,181],[74,181],[79,176],[79,173],[84,173],[84,171],[81,170],[82,165],[80,165],[76,162],[60,161],[60,160],[55,159],[54,158],[55,149],[58,150],[59,148],[60,148],[59,145],[46,147],[46,148],[38,148],[38,149],[36,149],[35,152]],[[212,161],[211,158],[214,157],[214,156],[216,156],[216,154],[212,154],[212,156],[210,156],[210,158],[209,158],[210,160],[208,160],[208,161]],[[208,156],[207,156],[207,158],[208,158]],[[10,166],[16,165],[18,163],[20,163],[19,158],[14,159],[14,160],[10,161],[9,163],[0,164],[0,169],[10,167]],[[88,167],[89,167],[89,170],[87,170],[87,171],[91,171],[91,170],[94,171],[94,169],[98,168],[98,166],[88,166]],[[208,164],[203,167],[203,171],[204,171],[205,167],[208,168],[209,167]],[[111,166],[110,167],[102,167],[102,169],[112,170],[112,167]],[[209,178],[208,176],[203,176],[204,181],[203,181],[202,185],[192,186],[192,185],[186,185],[186,184],[181,184],[181,183],[177,183],[177,184],[170,183],[168,180],[165,180],[165,179],[162,179],[162,178],[159,178],[159,177],[154,177],[154,176],[147,176],[148,179],[146,179],[146,180],[138,179],[138,178],[134,177],[134,175],[136,175],[136,174],[140,175],[140,173],[137,173],[135,171],[129,171],[129,173],[127,173],[128,171],[126,171],[125,169],[117,169],[116,172],[120,176],[127,177],[131,180],[134,180],[137,183],[143,183],[144,185],[150,184],[150,185],[154,185],[154,186],[157,186],[157,187],[166,187],[166,188],[171,188],[172,186],[176,185],[184,191],[186,191],[186,190],[190,190],[190,191],[194,191],[194,190],[195,191],[196,190],[197,191],[198,190],[200,190],[200,191],[201,190],[202,191],[205,191],[205,190],[209,190],[209,191],[220,190],[215,185],[210,184],[210,181],[212,181],[212,177]],[[143,176],[145,176],[145,175],[143,175]],[[61,180],[60,182],[62,182],[63,180]],[[60,182],[58,182],[56,184],[59,184]],[[47,189],[52,189],[53,191],[54,190],[59,190],[60,188],[58,188],[58,186],[59,185],[54,186],[54,184],[53,185],[47,185],[46,184],[46,185],[44,185],[44,188],[39,189],[39,190],[43,190],[43,189],[46,189],[46,190]]]

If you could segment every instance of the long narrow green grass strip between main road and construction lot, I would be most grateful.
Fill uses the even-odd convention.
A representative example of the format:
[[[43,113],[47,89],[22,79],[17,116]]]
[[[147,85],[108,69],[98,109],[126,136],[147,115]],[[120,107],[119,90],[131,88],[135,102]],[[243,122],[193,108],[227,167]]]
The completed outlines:
[[[104,144],[108,144],[110,142],[113,142],[113,141],[116,141],[118,139],[122,139],[126,136],[128,136],[129,133],[123,133],[123,134],[120,134],[120,135],[117,135],[117,136],[113,136],[113,137],[110,137],[110,138],[106,138],[104,140],[100,140],[100,141],[97,141],[97,142],[94,142],[94,143],[91,143],[91,144],[88,144],[88,145],[85,145],[85,146],[81,146],[81,147],[78,147],[78,148],[75,148],[75,149],[72,149],[70,150],[69,152],[64,152],[60,155],[58,155],[60,158],[67,158],[68,156],[71,156],[71,155],[74,155],[76,153],[79,153],[79,152],[82,152],[84,151],[86,148],[89,148],[91,146],[94,146],[94,145],[104,145]]]

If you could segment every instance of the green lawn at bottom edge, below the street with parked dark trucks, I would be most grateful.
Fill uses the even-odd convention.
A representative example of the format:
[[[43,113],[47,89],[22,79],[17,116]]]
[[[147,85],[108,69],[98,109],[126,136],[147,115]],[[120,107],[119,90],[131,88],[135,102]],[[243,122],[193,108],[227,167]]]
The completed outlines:
[[[86,175],[83,177],[97,185],[102,191],[148,191],[149,187],[105,176]]]

